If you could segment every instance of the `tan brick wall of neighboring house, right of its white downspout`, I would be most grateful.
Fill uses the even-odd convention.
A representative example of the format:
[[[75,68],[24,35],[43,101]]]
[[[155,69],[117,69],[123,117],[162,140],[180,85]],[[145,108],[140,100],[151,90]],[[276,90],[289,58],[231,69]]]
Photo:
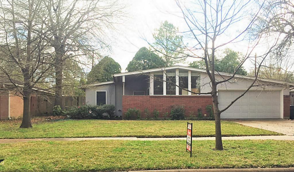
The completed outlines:
[[[24,100],[20,96],[10,94],[10,117],[22,118],[24,111]]]

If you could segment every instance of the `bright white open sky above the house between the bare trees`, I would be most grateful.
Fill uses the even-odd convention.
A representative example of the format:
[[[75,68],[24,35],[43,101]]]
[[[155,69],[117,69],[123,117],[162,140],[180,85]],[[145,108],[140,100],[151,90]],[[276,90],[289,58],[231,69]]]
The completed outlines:
[[[104,55],[109,55],[117,61],[121,65],[122,72],[141,47],[148,47],[148,43],[143,38],[153,42],[152,33],[154,29],[160,27],[162,21],[167,20],[178,27],[179,31],[187,30],[186,23],[178,17],[181,13],[174,0],[124,0],[120,2],[128,5],[125,9],[128,18],[124,19],[123,24],[119,25],[119,29],[112,34],[112,51]],[[246,19],[243,20],[246,21]],[[227,34],[220,41],[230,40],[231,37],[232,35]],[[246,42],[242,42],[229,44],[228,47],[245,53],[247,46]],[[195,59],[187,59],[186,64],[193,60]],[[245,69],[248,71],[252,67],[249,61],[245,64]]]

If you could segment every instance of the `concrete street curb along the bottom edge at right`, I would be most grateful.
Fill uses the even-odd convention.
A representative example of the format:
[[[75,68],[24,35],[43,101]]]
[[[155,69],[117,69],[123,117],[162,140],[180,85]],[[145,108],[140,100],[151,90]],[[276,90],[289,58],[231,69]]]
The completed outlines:
[[[180,170],[141,170],[128,172],[294,172],[294,168],[214,168]]]

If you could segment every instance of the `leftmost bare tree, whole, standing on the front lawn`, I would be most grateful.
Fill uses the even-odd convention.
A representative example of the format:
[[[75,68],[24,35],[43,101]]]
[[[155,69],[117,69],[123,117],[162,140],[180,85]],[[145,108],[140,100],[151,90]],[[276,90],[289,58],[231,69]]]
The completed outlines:
[[[24,101],[21,128],[30,128],[30,96],[37,83],[49,76],[51,53],[47,49],[48,32],[40,22],[42,0],[0,1],[0,69]],[[11,72],[12,67],[14,72]],[[21,81],[21,82],[19,82]],[[43,80],[45,81],[45,80]]]

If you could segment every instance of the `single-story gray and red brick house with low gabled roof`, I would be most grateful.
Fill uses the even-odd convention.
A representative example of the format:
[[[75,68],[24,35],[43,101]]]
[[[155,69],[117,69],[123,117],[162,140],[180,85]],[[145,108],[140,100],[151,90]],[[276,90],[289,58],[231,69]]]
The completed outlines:
[[[219,72],[221,81],[231,74]],[[255,77],[235,75],[218,85],[219,108],[225,108],[252,84]],[[178,85],[178,86],[176,86]],[[258,78],[254,87],[221,114],[222,119],[235,118],[289,118],[290,88],[294,83]],[[113,81],[84,86],[86,104],[113,104],[116,115],[123,116],[129,108],[137,108],[144,118],[144,110],[170,112],[172,105],[185,106],[186,116],[197,116],[199,109],[206,116],[206,106],[212,104],[211,95],[193,94],[211,91],[206,70],[187,66],[170,66],[113,75]],[[189,91],[186,91],[189,90]]]

